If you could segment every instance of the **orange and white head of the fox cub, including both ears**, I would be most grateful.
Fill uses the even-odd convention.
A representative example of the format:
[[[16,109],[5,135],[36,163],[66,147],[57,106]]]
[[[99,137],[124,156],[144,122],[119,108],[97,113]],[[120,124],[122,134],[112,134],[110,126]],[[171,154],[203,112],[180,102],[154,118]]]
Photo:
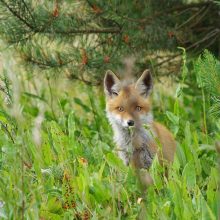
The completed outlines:
[[[108,70],[104,78],[104,90],[107,98],[106,111],[112,124],[124,128],[147,124],[151,118],[149,94],[153,80],[149,70],[131,84],[121,81]]]

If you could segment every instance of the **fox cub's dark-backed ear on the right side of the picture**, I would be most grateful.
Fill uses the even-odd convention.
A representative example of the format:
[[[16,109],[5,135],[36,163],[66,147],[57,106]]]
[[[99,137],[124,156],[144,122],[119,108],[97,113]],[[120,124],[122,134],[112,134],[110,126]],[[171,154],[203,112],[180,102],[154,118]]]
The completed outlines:
[[[141,77],[136,82],[135,88],[139,90],[140,94],[147,97],[153,88],[153,79],[150,70],[145,70]]]

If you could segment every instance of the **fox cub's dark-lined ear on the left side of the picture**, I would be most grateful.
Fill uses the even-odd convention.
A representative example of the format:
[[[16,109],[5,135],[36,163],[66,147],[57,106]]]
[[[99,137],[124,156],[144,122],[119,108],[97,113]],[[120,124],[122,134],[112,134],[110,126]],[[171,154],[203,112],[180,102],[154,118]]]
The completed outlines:
[[[104,78],[105,94],[107,96],[117,96],[120,90],[120,80],[111,71],[107,70]]]

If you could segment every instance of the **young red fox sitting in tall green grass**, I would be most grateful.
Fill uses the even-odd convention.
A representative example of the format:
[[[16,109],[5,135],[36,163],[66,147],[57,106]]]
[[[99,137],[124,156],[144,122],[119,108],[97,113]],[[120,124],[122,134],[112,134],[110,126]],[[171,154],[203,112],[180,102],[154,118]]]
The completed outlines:
[[[138,169],[149,168],[155,154],[162,164],[172,163],[176,150],[171,132],[153,120],[149,101],[152,87],[149,70],[137,82],[121,81],[110,70],[104,78],[106,112],[119,157],[126,165],[131,163]]]

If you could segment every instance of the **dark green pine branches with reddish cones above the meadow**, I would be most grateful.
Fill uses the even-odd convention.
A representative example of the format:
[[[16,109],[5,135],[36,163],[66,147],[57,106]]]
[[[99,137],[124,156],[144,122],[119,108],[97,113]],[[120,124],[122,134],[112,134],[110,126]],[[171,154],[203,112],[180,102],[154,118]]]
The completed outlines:
[[[0,0],[0,37],[30,72],[40,68],[34,74],[99,84],[129,54],[137,73],[148,66],[159,75],[178,73],[177,46],[218,54],[218,12],[215,2],[201,0]]]

